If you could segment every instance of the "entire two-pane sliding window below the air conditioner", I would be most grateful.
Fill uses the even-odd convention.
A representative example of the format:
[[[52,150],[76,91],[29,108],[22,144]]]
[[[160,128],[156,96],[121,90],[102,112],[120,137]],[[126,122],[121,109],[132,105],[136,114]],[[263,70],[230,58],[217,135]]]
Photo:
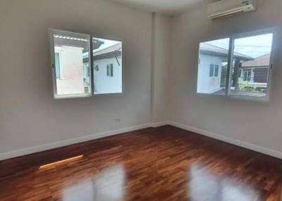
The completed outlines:
[[[273,36],[264,30],[200,43],[197,93],[268,100]]]

